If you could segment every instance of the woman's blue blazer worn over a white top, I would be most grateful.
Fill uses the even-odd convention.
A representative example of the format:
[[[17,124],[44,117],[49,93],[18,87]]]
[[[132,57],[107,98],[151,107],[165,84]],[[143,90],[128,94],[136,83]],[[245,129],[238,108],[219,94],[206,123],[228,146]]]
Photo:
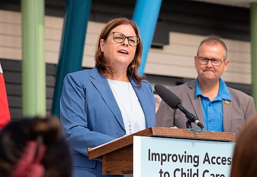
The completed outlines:
[[[130,82],[138,84],[132,78]],[[143,80],[142,86],[133,88],[145,116],[145,127],[156,126],[151,84]],[[74,176],[99,176],[101,162],[88,160],[87,148],[126,134],[120,109],[106,77],[97,68],[68,74],[63,83],[60,110],[64,134],[72,149]]]

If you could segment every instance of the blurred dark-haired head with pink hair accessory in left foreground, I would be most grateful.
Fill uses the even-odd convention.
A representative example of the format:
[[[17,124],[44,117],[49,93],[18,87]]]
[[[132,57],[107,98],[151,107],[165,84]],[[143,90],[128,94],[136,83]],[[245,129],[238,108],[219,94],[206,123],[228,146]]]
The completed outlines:
[[[57,118],[26,118],[0,132],[0,176],[70,176],[71,157]]]

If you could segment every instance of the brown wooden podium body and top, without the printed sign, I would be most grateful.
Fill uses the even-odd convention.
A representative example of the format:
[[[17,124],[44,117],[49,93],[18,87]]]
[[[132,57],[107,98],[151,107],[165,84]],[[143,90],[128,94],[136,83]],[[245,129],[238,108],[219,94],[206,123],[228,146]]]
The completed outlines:
[[[150,127],[137,133],[123,136],[96,148],[88,148],[90,160],[102,160],[103,174],[133,174],[133,136],[198,139],[212,141],[234,141],[230,132],[203,131],[197,133],[187,129]]]

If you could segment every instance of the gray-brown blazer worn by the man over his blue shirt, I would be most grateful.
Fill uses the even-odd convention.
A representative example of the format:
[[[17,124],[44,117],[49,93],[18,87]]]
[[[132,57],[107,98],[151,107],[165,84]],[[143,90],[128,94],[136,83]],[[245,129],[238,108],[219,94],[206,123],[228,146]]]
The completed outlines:
[[[195,98],[196,80],[174,86],[170,90],[180,99],[182,105],[200,122],[205,125],[201,108],[201,98]],[[246,120],[255,114],[253,98],[241,91],[228,87],[232,101],[227,104],[223,100],[223,128],[224,132],[233,132],[235,135],[244,126]],[[186,128],[187,118],[180,110],[173,110],[161,101],[156,113],[156,126]],[[198,128],[194,123],[192,127]]]

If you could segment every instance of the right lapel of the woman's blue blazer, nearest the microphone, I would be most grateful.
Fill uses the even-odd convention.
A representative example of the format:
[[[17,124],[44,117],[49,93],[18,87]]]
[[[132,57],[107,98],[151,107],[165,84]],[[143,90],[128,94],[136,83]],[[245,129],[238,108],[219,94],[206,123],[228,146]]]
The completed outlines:
[[[146,95],[146,93],[144,92],[143,89],[143,83],[141,87],[135,87],[135,85],[137,85],[138,83],[134,80],[130,78],[130,82],[134,88],[134,91],[136,92],[137,98],[141,104],[141,108],[143,110],[144,113],[144,117],[145,117],[145,127],[150,127],[153,125],[153,122],[150,122],[151,120],[151,116],[152,116],[152,112],[153,112],[153,108],[149,108],[148,105],[152,105],[152,103],[148,103],[148,101],[150,101],[149,96]]]

